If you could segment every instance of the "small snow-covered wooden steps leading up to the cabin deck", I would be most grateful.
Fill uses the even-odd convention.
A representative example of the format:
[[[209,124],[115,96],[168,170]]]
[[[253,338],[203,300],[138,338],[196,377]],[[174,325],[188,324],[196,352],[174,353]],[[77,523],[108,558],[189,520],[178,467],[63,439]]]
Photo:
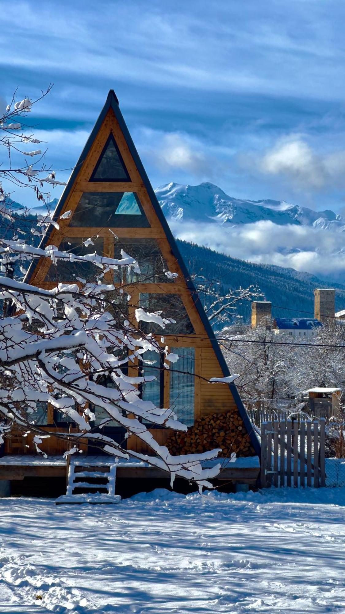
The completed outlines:
[[[105,462],[100,465],[90,464],[85,459],[72,458],[68,470],[66,495],[56,499],[61,503],[118,503],[120,495],[115,495],[116,465]]]

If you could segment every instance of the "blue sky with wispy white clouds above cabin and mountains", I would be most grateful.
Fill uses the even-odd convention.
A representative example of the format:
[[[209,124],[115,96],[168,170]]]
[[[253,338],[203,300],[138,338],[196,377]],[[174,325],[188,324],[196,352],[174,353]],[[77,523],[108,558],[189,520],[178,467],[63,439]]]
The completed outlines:
[[[1,4],[2,100],[54,83],[31,117],[48,165],[76,163],[114,88],[154,187],[345,207],[343,2]]]

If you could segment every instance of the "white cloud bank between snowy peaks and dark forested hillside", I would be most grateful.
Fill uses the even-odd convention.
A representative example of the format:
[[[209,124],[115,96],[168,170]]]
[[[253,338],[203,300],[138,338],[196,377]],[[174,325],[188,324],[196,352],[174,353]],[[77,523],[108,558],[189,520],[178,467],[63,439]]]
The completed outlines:
[[[169,220],[175,236],[241,260],[308,271],[345,281],[345,236],[299,225],[269,221],[237,226]]]

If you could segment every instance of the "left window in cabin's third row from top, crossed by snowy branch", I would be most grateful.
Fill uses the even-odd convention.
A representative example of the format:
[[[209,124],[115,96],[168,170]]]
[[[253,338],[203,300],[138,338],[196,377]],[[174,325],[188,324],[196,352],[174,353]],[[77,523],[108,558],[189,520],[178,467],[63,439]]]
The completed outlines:
[[[85,246],[83,243],[85,238],[64,238],[61,241],[59,250],[61,252],[69,252],[77,256],[85,256],[87,254],[103,255],[103,239],[93,239],[93,245]],[[74,281],[77,277],[86,281],[95,281],[99,274],[98,266],[92,262],[68,262],[67,260],[57,260],[56,264],[50,265],[45,281],[64,282]]]

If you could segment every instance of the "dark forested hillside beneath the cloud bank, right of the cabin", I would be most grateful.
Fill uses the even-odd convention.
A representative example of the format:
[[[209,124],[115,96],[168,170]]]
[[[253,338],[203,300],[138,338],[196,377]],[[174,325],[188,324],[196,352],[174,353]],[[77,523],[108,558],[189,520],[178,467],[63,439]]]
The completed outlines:
[[[223,290],[256,284],[266,300],[271,301],[273,316],[314,317],[314,288],[330,287],[309,273],[237,260],[186,241],[177,240],[177,245],[191,274],[220,281]],[[337,290],[336,310],[345,309],[345,286],[331,284],[331,287]],[[248,320],[250,309],[250,303],[242,303],[238,306],[238,313]]]

